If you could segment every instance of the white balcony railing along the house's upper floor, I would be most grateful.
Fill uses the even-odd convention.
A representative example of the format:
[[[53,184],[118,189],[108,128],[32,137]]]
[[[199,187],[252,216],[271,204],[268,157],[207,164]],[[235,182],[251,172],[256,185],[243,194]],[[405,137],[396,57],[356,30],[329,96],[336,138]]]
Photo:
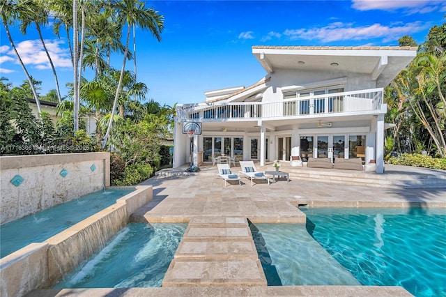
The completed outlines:
[[[335,114],[379,110],[383,89],[368,89],[286,99],[279,102],[214,102],[177,105],[178,121],[227,121],[230,119],[298,118],[312,114]]]

